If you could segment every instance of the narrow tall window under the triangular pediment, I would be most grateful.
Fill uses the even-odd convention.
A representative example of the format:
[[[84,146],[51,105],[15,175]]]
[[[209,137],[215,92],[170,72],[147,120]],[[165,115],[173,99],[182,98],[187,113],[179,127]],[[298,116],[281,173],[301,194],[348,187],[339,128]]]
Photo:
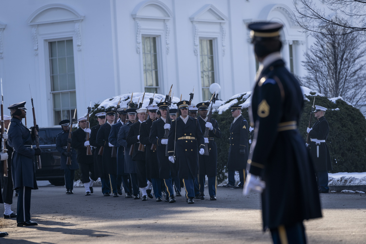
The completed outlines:
[[[213,40],[199,39],[199,56],[201,58],[201,84],[203,100],[210,100],[210,85],[215,82]]]

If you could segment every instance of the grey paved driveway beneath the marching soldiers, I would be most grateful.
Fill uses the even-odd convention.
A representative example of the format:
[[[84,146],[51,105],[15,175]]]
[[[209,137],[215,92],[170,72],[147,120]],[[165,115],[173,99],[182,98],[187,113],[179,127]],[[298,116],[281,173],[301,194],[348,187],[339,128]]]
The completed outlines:
[[[32,191],[31,217],[39,225],[0,219],[0,230],[9,233],[0,243],[271,243],[256,193],[218,187],[217,201],[188,205],[184,197],[176,203],[104,197],[100,187],[91,196],[83,188],[74,192],[50,185]],[[322,194],[321,201],[324,217],[305,222],[308,243],[366,243],[366,194]]]

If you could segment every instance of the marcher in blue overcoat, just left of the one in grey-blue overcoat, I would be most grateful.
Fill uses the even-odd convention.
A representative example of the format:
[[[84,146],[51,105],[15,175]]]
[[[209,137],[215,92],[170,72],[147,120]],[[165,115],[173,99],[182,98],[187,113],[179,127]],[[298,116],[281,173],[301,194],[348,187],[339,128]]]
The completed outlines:
[[[118,144],[118,132],[121,126],[124,125],[127,118],[127,108],[119,108],[117,110],[120,117],[120,121],[111,127],[111,133],[109,133],[109,143],[117,148],[117,193],[122,195],[122,183],[124,187],[124,193],[126,198],[131,198],[130,186],[128,185],[129,174],[124,173],[124,147]]]

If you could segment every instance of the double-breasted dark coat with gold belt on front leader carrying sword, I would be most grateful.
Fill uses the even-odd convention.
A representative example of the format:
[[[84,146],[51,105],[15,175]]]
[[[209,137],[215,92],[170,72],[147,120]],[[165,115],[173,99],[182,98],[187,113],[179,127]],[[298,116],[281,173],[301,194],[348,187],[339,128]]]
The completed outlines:
[[[194,139],[181,139],[180,137],[194,137]],[[182,118],[178,117],[172,121],[168,136],[168,155],[174,154],[178,158],[178,177],[188,179],[191,174],[192,178],[198,175],[198,151],[205,149],[205,139],[201,126],[199,126],[197,118],[188,116],[187,123],[184,124]]]

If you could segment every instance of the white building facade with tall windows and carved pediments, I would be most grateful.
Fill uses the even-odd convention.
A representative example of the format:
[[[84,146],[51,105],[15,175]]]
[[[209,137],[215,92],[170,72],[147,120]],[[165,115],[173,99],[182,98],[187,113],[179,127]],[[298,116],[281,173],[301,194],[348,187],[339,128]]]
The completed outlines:
[[[293,7],[292,0],[0,1],[4,107],[27,101],[30,108],[30,86],[44,127],[75,108],[85,114],[90,100],[167,94],[172,84],[183,99],[194,86],[198,103],[218,83],[226,100],[254,85],[258,63],[246,25],[255,21],[283,23],[282,55],[301,77],[310,45]]]

